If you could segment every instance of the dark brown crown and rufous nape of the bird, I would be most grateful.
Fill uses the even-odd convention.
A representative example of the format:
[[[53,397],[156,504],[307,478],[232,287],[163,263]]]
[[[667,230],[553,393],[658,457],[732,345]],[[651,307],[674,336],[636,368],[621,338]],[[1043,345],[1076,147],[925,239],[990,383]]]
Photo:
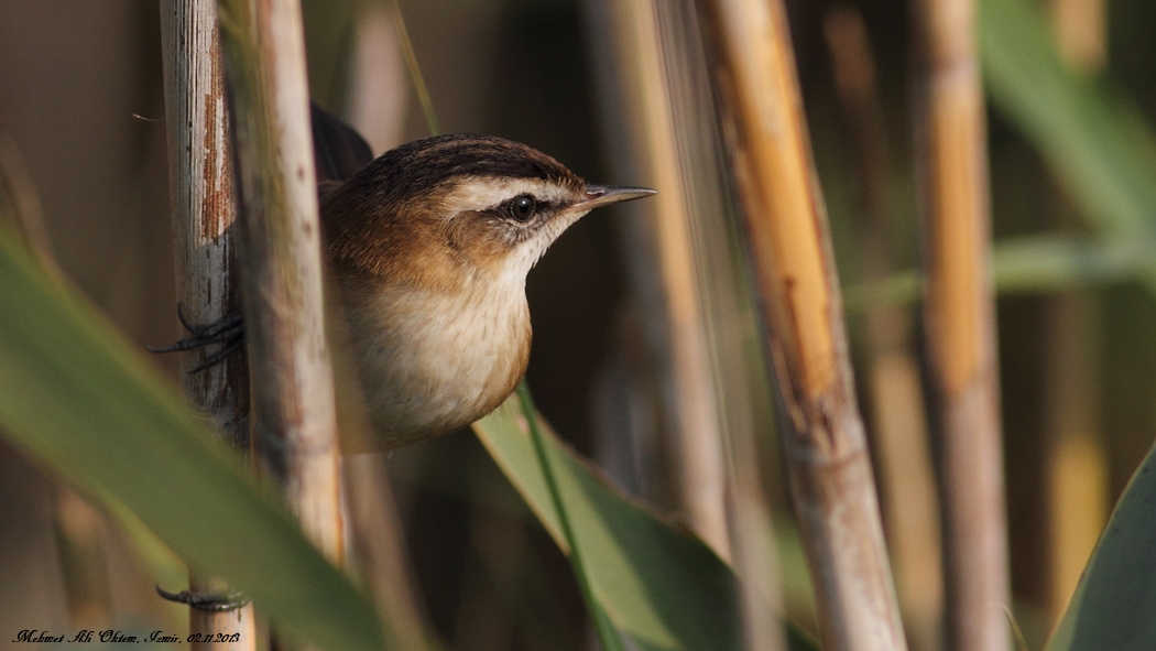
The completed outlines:
[[[542,179],[575,192],[586,183],[541,151],[489,135],[440,135],[391,149],[366,165],[321,204],[331,261],[375,274],[424,247],[418,206],[436,206],[457,178]],[[417,247],[417,249],[415,249]],[[416,269],[410,269],[416,271]]]

